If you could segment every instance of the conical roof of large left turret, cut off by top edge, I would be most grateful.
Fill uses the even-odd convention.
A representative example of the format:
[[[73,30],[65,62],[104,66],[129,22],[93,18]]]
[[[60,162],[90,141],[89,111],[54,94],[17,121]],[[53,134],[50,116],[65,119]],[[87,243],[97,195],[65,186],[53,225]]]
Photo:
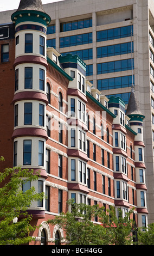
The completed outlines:
[[[41,0],[21,0],[17,11],[35,10],[45,13]]]

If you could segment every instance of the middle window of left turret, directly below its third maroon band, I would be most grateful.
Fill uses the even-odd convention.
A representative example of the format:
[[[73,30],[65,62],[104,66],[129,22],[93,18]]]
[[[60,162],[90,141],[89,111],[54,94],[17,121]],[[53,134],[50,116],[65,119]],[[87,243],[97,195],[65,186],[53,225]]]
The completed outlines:
[[[23,141],[23,165],[31,164],[31,139]]]

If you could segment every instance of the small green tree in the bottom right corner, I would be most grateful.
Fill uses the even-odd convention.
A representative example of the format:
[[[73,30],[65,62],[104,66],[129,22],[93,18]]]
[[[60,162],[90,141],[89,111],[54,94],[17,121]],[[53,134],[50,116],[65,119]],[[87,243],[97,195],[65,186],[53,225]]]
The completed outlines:
[[[147,228],[139,228],[138,245],[154,245],[154,223],[150,223]]]

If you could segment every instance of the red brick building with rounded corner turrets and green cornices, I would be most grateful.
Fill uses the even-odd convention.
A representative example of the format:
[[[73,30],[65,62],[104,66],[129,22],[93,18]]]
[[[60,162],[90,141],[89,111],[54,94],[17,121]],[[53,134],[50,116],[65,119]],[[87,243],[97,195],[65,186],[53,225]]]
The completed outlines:
[[[134,207],[138,227],[147,225],[144,116],[133,86],[125,113],[123,100],[107,99],[86,80],[77,55],[47,48],[50,17],[41,1],[21,1],[11,19],[1,26],[7,38],[0,39],[1,168],[41,170],[31,185],[48,199],[29,208],[33,223],[42,224],[33,244],[53,245],[63,237],[46,221],[66,212],[70,198],[113,205],[123,216]]]

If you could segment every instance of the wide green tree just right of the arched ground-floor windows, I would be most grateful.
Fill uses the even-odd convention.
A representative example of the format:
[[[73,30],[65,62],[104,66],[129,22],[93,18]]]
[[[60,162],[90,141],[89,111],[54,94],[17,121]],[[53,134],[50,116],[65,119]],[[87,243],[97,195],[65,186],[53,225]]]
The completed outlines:
[[[98,205],[76,204],[72,200],[68,201],[72,211],[61,212],[54,220],[48,220],[47,223],[59,225],[65,231],[65,237],[68,245],[107,245],[108,238],[106,229],[99,224],[94,224],[92,220],[99,215],[104,208]]]

